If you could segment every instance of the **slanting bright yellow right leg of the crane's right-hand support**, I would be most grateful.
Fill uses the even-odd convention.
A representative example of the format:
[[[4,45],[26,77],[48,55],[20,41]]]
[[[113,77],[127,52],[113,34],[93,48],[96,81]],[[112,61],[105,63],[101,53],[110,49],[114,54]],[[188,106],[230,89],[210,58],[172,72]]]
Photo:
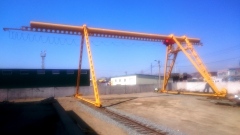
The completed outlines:
[[[225,97],[226,96],[226,89],[222,89],[221,91],[218,90],[215,83],[212,81],[211,75],[208,73],[207,68],[203,64],[202,60],[198,56],[197,52],[193,48],[193,45],[189,42],[188,38],[184,36],[186,46],[184,47],[174,35],[171,35],[174,42],[177,44],[178,48],[187,56],[190,62],[194,65],[194,67],[198,70],[198,72],[203,76],[206,82],[214,91],[213,96],[217,97]]]

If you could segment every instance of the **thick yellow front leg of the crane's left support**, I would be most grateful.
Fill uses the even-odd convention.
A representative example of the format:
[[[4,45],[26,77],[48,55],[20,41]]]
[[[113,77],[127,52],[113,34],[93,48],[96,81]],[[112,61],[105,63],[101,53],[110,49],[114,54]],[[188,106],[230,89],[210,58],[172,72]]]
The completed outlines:
[[[94,65],[93,65],[93,60],[92,60],[92,53],[91,53],[91,48],[90,48],[90,42],[89,42],[89,37],[88,37],[88,30],[87,26],[83,25],[83,31],[84,31],[84,37],[86,41],[86,46],[87,46],[87,53],[88,53],[88,61],[90,64],[90,71],[91,71],[91,76],[92,76],[92,84],[93,84],[93,90],[94,90],[94,95],[95,95],[95,106],[100,107],[101,102],[99,98],[99,93],[98,93],[98,85],[97,85],[97,79],[94,71]]]

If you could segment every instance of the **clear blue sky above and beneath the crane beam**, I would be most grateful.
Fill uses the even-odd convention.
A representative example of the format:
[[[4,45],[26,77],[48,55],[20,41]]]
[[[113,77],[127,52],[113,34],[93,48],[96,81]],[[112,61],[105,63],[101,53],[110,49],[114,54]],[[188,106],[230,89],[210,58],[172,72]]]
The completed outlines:
[[[239,0],[1,0],[0,27],[41,21],[186,35],[201,39],[203,46],[195,48],[208,70],[217,71],[240,66],[239,7]],[[97,77],[151,74],[151,64],[157,74],[154,60],[162,67],[165,62],[162,43],[96,37],[90,41]],[[0,68],[41,68],[40,52],[46,50],[46,68],[75,69],[79,44],[78,36],[0,30]],[[82,68],[89,68],[86,48]],[[174,72],[195,71],[180,53]]]

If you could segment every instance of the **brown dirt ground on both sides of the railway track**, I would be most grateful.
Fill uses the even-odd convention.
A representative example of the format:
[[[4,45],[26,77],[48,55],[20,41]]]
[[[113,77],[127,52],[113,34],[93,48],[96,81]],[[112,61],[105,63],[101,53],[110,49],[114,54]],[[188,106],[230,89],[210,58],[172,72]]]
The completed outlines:
[[[101,95],[104,107],[142,117],[187,135],[238,135],[240,107],[218,105],[207,97],[160,93]],[[90,98],[90,97],[88,97]],[[34,99],[35,101],[36,99]],[[86,134],[126,135],[127,132],[88,113],[73,97],[56,99]],[[29,102],[18,100],[14,102]]]

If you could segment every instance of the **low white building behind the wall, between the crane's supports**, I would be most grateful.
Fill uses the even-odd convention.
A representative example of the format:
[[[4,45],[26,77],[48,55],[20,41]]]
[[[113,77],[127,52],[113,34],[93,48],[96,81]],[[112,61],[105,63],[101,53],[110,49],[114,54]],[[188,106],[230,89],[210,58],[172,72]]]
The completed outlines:
[[[111,85],[137,85],[137,84],[158,84],[159,77],[156,75],[125,75],[111,78]]]

